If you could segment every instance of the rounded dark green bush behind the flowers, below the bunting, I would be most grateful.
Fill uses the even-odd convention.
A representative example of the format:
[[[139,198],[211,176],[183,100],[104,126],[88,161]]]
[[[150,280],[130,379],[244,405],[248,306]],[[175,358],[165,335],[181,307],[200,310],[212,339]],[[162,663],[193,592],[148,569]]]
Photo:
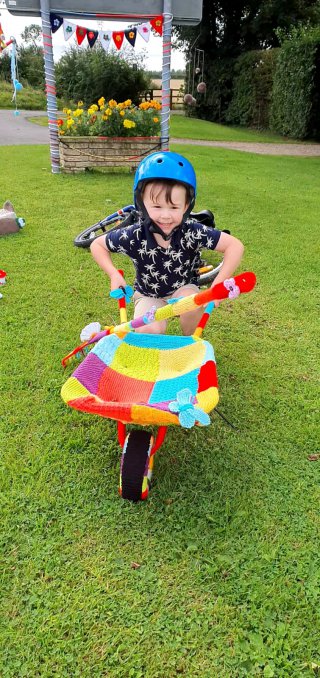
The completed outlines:
[[[118,54],[106,54],[99,46],[85,50],[74,46],[56,65],[57,92],[68,101],[81,100],[86,106],[101,96],[107,100],[131,99],[137,104],[139,95],[149,86],[138,58],[132,57],[129,63]]]

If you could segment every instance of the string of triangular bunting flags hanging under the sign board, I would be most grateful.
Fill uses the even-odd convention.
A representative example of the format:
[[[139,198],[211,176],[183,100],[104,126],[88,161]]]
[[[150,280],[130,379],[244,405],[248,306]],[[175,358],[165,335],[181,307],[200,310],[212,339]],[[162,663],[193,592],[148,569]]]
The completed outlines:
[[[72,21],[69,21],[69,19],[62,17],[59,14],[55,14],[54,12],[50,12],[50,23],[52,33],[56,33],[62,26],[65,40],[69,40],[75,35],[78,45],[81,45],[86,38],[90,47],[93,47],[98,40],[106,52],[108,52],[111,44],[115,45],[116,48],[120,50],[124,40],[126,40],[131,47],[134,47],[137,35],[140,35],[145,42],[149,42],[151,31],[153,31],[155,35],[160,36],[162,36],[163,31],[162,15],[156,16],[149,21],[144,21],[143,23],[124,31],[94,31],[90,28],[85,28],[84,26],[78,26]]]

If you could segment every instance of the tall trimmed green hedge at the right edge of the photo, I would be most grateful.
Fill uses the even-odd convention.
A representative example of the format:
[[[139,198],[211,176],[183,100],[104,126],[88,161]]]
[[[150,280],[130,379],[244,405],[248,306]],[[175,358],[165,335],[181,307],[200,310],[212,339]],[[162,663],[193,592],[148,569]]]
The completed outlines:
[[[274,77],[271,127],[297,139],[320,138],[320,28],[293,29]]]

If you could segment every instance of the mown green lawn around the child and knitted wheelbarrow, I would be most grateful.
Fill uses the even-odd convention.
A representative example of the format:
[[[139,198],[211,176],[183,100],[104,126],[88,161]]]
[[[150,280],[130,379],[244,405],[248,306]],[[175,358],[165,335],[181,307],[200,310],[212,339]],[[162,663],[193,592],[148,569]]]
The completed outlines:
[[[73,238],[131,202],[132,176],[52,175],[45,146],[1,149],[2,199],[26,219],[0,241],[4,678],[319,670],[319,162],[175,150],[195,165],[196,207],[243,240],[258,282],[206,331],[237,430],[214,413],[170,429],[150,499],[131,505],[116,424],[64,405],[60,361],[90,320],[118,317]]]

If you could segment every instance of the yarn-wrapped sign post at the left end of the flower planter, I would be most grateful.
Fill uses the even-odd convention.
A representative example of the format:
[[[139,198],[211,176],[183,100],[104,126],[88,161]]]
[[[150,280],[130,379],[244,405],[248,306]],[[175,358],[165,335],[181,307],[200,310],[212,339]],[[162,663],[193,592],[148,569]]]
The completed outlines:
[[[50,24],[50,0],[40,0],[42,39],[44,54],[44,72],[46,80],[47,112],[49,123],[51,171],[60,172],[59,135],[57,124],[57,97],[54,77],[52,35]]]

